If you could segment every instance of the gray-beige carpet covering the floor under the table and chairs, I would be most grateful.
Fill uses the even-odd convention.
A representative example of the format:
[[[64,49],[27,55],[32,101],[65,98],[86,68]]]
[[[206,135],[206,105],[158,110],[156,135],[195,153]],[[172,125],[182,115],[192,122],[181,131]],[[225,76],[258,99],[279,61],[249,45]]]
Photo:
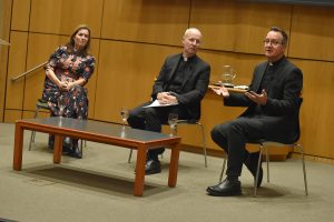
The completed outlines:
[[[84,159],[62,157],[52,164],[47,135],[37,133],[28,151],[24,134],[22,171],[12,170],[13,124],[0,123],[0,219],[3,221],[333,221],[334,165],[306,162],[305,196],[298,160],[271,163],[271,183],[252,196],[253,178],[244,169],[243,195],[213,198],[207,185],[218,181],[222,159],[180,153],[177,186],[168,188],[169,150],[163,172],[146,176],[143,198],[132,195],[135,161],[129,150],[87,142]],[[1,221],[0,220],[0,221]]]

